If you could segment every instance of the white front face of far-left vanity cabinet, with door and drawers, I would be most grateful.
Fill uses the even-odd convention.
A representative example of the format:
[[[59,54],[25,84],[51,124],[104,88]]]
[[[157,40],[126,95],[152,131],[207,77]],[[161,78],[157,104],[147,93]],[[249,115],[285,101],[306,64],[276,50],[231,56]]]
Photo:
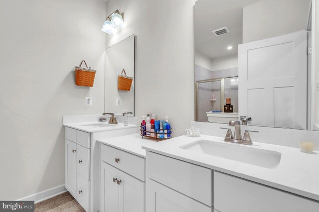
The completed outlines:
[[[90,211],[90,133],[69,127],[65,128],[65,188]]]

